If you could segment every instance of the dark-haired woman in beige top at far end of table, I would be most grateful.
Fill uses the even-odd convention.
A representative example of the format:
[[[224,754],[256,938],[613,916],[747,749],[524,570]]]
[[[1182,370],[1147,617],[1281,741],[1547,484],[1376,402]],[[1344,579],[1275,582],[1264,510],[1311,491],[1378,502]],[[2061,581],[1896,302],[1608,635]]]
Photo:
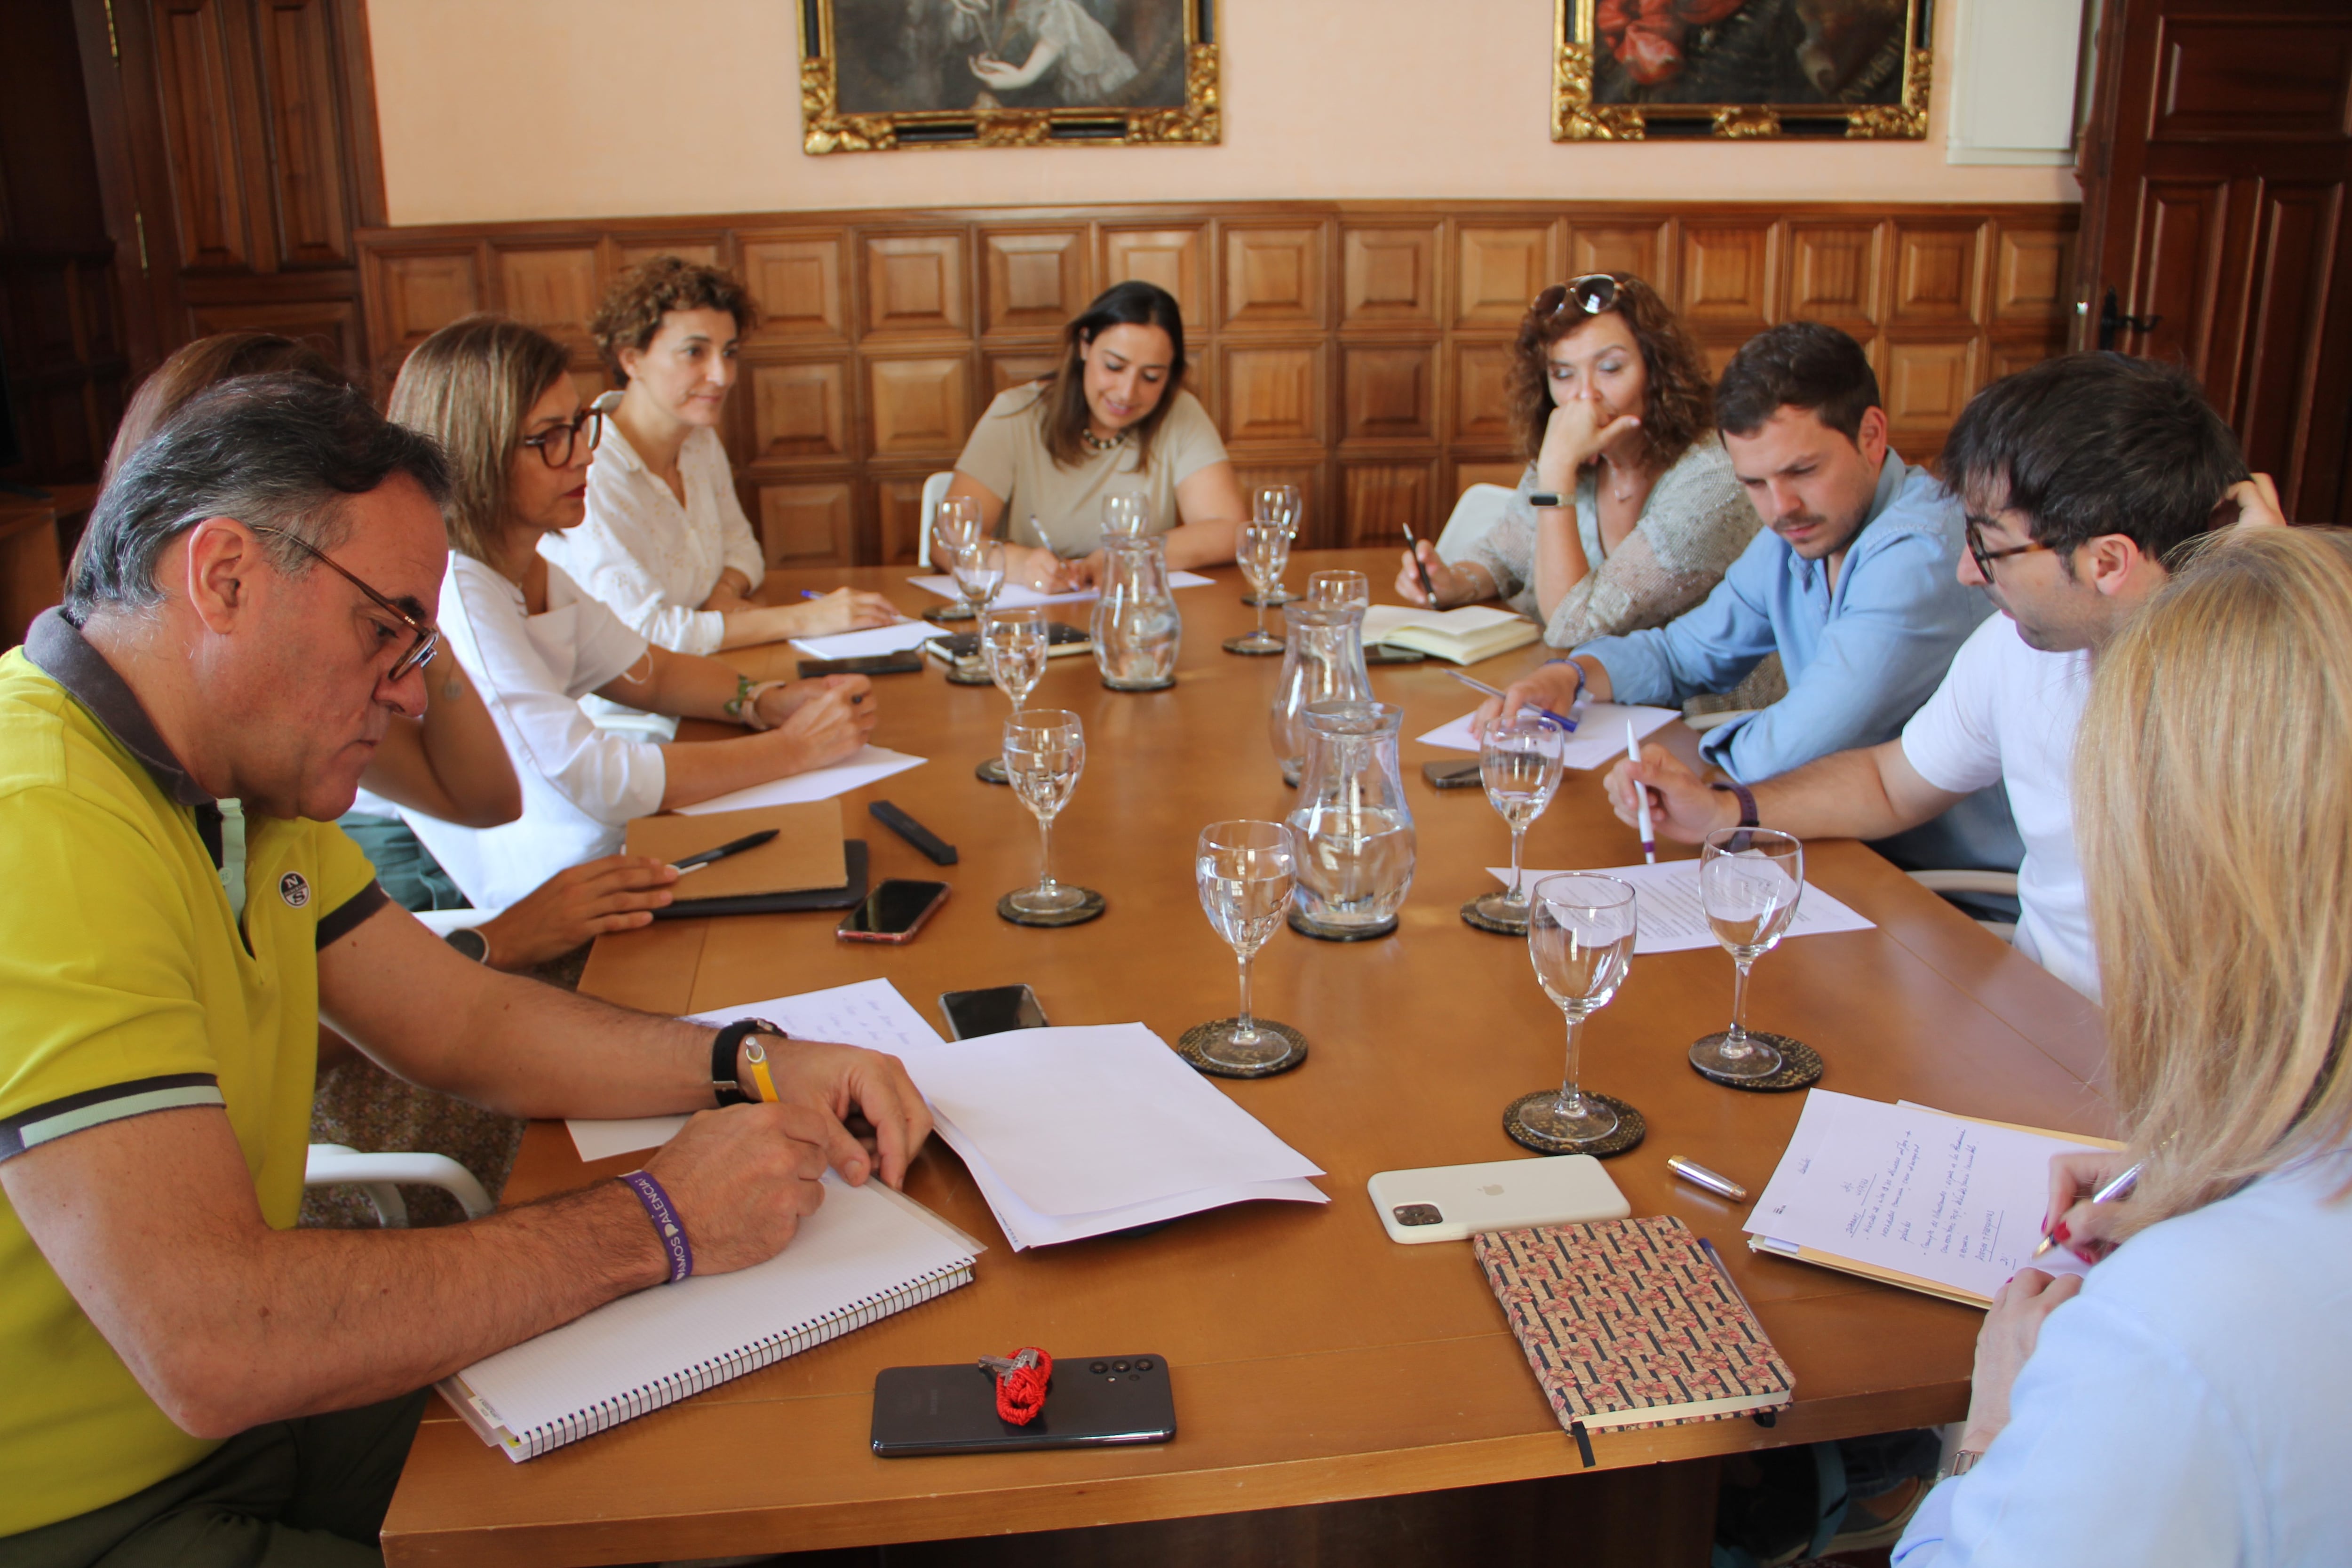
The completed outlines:
[[[1183,371],[1176,299],[1122,282],[1063,329],[1061,369],[988,404],[948,494],[976,498],[988,534],[1011,541],[1009,581],[1044,592],[1094,585],[1108,496],[1143,496],[1169,567],[1232,559],[1249,505]]]

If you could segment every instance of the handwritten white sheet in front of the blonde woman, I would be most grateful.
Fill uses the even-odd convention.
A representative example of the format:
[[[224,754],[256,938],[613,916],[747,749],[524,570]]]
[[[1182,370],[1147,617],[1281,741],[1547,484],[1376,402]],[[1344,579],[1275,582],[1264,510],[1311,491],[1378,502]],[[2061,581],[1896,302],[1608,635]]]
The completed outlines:
[[[1990,1300],[2027,1265],[2084,1269],[2032,1253],[2051,1154],[2091,1147],[1813,1088],[1745,1229]]]

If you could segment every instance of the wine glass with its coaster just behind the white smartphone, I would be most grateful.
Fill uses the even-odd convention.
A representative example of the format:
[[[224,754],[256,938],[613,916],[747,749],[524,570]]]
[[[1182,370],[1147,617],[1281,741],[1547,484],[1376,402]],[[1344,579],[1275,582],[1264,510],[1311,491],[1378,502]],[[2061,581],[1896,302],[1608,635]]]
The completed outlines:
[[[1526,910],[1526,957],[1543,994],[1569,1020],[1569,1070],[1559,1093],[1524,1095],[1503,1114],[1519,1143],[1552,1154],[1576,1154],[1618,1131],[1618,1112],[1602,1095],[1578,1088],[1578,1046],[1585,1018],[1609,1006],[1632,966],[1632,886],[1595,872],[1564,872],[1536,884]]]

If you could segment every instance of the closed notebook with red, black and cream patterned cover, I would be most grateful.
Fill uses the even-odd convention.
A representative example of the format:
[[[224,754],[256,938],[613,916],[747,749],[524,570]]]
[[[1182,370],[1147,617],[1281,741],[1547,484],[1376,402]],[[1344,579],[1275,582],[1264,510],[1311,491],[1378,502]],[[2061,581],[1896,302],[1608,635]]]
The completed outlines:
[[[1559,1425],[1677,1427],[1780,1410],[1797,1380],[1670,1215],[1472,1237]]]

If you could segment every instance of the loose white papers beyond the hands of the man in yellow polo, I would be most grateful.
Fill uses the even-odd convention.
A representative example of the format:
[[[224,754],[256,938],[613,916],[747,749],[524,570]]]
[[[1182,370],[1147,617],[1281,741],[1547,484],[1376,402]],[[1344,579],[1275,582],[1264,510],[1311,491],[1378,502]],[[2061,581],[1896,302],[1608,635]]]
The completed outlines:
[[[889,980],[699,1013],[891,1051],[1014,1251],[1244,1204],[1329,1204],[1322,1171],[1141,1023],[943,1041]],[[649,1150],[684,1117],[574,1121],[581,1159]]]

